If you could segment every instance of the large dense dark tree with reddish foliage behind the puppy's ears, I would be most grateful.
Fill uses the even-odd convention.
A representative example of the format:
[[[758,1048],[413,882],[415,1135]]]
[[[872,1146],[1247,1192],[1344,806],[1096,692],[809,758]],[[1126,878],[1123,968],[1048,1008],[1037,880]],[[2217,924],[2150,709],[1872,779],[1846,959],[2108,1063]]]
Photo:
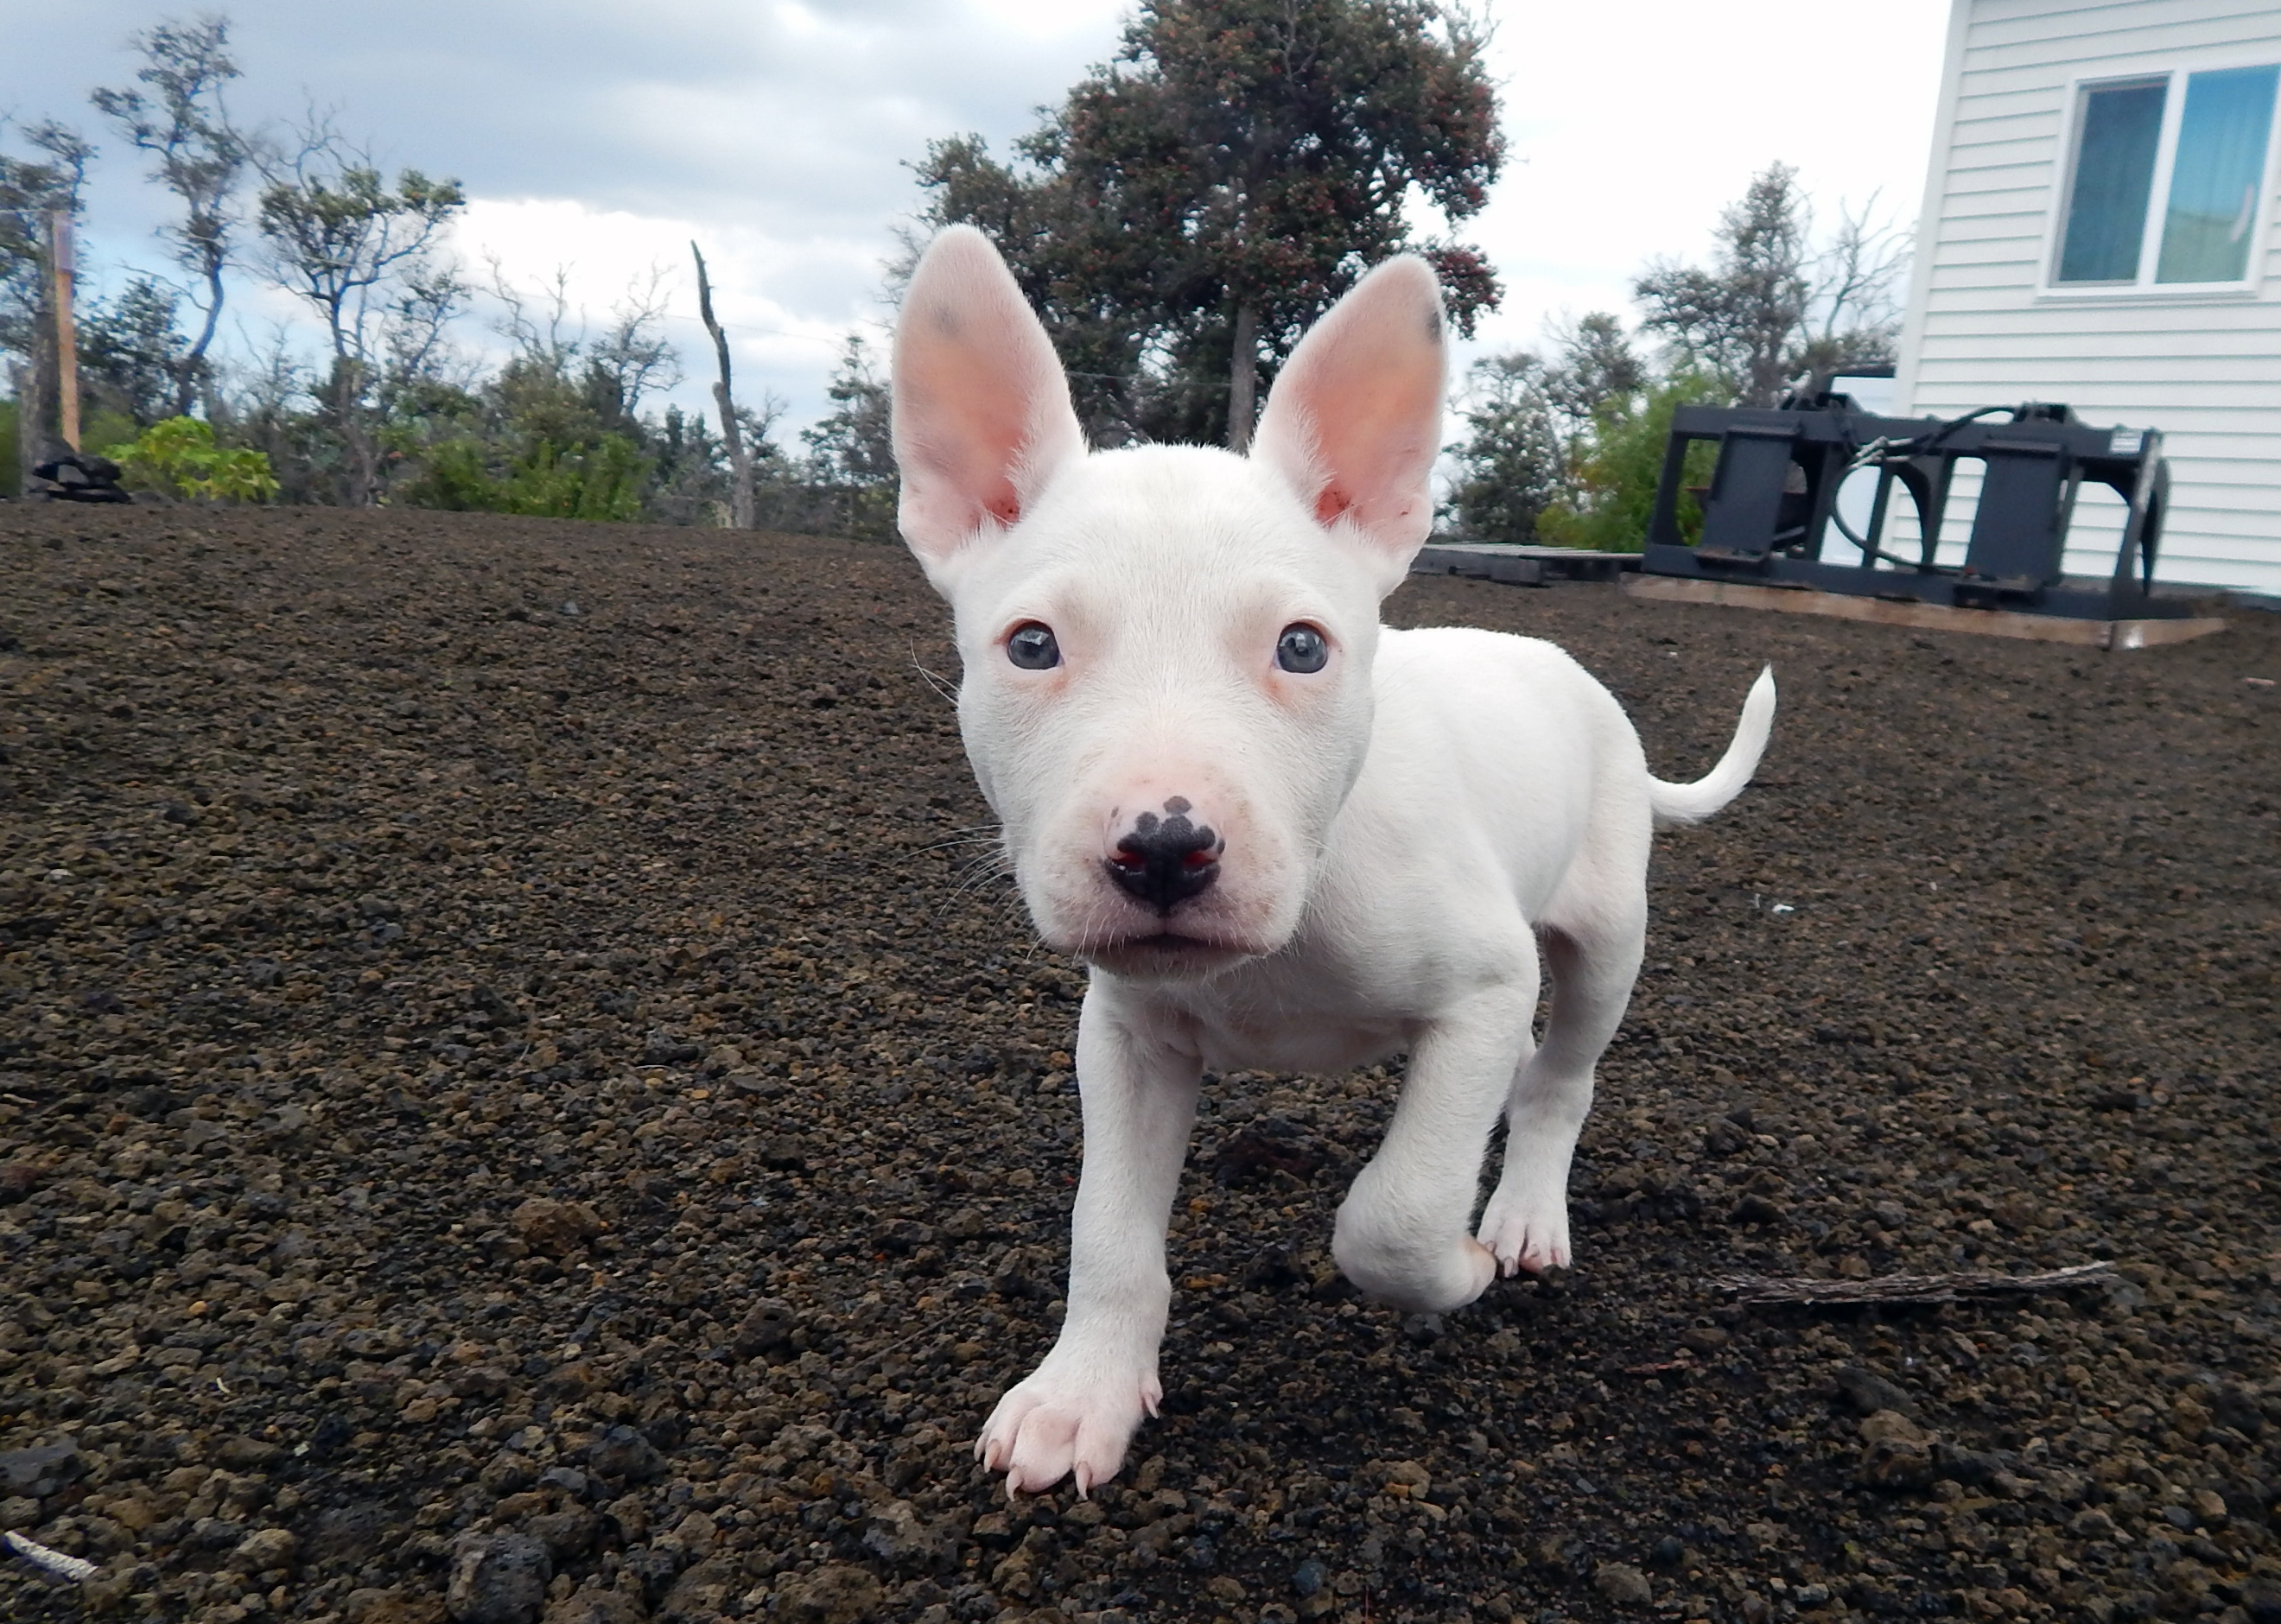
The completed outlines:
[[[1503,139],[1483,34],[1432,0],[1143,0],[1115,62],[1017,146],[937,141],[931,226],[997,242],[1102,440],[1250,440],[1261,372],[1371,265],[1421,249],[1462,331],[1478,251],[1407,203],[1476,214]]]

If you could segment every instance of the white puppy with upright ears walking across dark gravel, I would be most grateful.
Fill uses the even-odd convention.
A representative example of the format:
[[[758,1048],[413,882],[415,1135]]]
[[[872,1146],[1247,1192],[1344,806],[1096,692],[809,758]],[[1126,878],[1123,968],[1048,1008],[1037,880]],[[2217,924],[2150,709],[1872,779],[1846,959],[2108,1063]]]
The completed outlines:
[[[1401,258],[1291,354],[1248,458],[1088,454],[981,233],[942,233],[910,281],[903,538],[956,611],[958,723],[1022,899],[1093,965],[1068,1321],[976,1446],[1013,1489],[1111,1478],[1161,1398],[1163,1236],[1207,1067],[1410,1056],[1339,1209],[1362,1291],[1453,1309],[1499,1268],[1569,1261],[1569,1154],[1640,969],[1649,833],[1750,782],[1775,684],[1708,778],[1665,785],[1551,643],[1380,627],[1432,520],[1442,392],[1442,294]]]

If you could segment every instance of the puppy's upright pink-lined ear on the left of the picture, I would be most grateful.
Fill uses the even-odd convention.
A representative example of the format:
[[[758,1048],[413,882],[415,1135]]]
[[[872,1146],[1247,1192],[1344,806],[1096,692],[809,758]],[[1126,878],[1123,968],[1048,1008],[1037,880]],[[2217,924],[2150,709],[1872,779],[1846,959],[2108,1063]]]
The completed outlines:
[[[990,239],[935,237],[894,328],[899,525],[926,577],[947,586],[969,541],[1013,527],[1061,468],[1086,454],[1054,344]]]

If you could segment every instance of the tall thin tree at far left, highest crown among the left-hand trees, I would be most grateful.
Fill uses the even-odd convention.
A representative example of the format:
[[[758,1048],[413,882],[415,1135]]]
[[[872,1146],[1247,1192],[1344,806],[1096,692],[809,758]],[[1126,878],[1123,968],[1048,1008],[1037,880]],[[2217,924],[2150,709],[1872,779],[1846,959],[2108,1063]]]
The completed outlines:
[[[233,198],[246,176],[249,148],[230,123],[221,87],[237,78],[226,16],[160,23],[132,36],[144,89],[100,89],[94,105],[153,157],[151,178],[182,203],[167,228],[176,260],[205,283],[198,335],[176,363],[173,411],[187,415],[208,376],[205,351],[221,322],[224,269],[230,262]]]

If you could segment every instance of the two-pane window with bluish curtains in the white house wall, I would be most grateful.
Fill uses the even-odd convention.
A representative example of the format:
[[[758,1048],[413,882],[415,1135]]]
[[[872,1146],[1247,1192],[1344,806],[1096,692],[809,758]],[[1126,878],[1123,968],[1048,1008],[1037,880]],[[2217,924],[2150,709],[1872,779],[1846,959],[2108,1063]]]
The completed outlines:
[[[2249,281],[2281,66],[2085,84],[2057,287]]]

